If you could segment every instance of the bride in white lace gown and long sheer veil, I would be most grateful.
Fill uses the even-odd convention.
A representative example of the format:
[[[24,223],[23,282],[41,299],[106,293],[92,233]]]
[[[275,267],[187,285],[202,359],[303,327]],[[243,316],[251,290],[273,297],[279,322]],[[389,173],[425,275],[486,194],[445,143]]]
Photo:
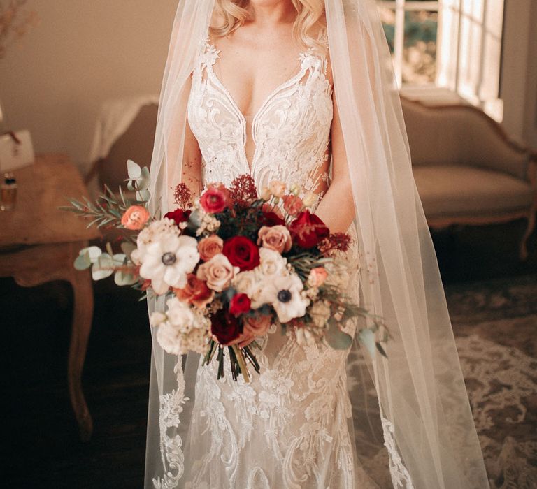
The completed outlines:
[[[146,487],[487,487],[373,1],[180,1],[151,205],[245,173],[314,192],[354,236],[349,293],[387,324],[388,359],[269,330],[245,384],[154,341]]]

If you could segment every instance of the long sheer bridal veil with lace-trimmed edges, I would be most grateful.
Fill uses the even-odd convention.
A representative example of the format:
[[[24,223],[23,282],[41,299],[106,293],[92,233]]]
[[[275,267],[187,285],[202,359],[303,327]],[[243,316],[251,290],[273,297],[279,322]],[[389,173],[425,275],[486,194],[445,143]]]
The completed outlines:
[[[208,34],[214,3],[179,2],[151,162],[153,211],[169,209],[171,189],[180,182],[189,75]],[[486,488],[480,444],[413,180],[399,93],[375,1],[326,0],[324,4],[334,93],[356,208],[361,300],[384,319],[392,335],[386,346],[388,359],[378,355],[366,365],[364,356],[361,363],[366,366],[349,371],[350,376],[361,377],[350,378],[350,386],[363,387],[365,377],[374,386],[362,388],[361,394],[351,391],[354,430],[363,441],[357,446],[361,466],[373,479],[373,472],[385,467],[395,488]],[[150,311],[162,307],[162,299],[149,302]],[[357,347],[353,353],[358,354]],[[197,363],[193,356],[164,353],[153,341],[147,488],[182,487],[183,440],[194,403]],[[370,397],[375,397],[373,406],[361,409]],[[378,414],[376,419],[373,412]]]

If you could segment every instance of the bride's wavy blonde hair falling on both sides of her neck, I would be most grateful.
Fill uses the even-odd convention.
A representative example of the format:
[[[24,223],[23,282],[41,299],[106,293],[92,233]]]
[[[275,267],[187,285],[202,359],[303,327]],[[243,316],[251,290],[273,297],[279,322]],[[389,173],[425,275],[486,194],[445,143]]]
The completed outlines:
[[[324,0],[291,0],[296,9],[293,37],[308,48],[326,48]],[[250,19],[250,0],[216,0],[210,32],[223,37],[236,31]]]

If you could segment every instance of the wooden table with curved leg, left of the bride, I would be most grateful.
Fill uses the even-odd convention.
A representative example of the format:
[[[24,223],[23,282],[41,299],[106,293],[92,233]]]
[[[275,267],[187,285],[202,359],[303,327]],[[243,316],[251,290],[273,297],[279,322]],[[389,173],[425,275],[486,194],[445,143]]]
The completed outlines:
[[[87,441],[93,422],[81,377],[92,327],[93,286],[90,272],[76,271],[73,261],[88,240],[100,234],[95,228],[86,229],[83,219],[58,209],[69,205],[66,197],[87,195],[78,170],[67,156],[38,156],[34,165],[14,174],[18,187],[15,210],[0,212],[0,277],[13,277],[24,287],[53,280],[66,280],[73,287],[69,397],[80,439]]]

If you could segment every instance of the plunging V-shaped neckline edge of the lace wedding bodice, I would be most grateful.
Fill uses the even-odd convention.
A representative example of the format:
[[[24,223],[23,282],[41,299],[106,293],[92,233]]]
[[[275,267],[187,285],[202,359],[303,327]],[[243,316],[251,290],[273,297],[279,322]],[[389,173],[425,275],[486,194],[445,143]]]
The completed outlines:
[[[269,92],[268,95],[264,98],[264,101],[262,102],[262,104],[259,105],[259,108],[254,112],[254,115],[244,115],[242,110],[240,108],[238,108],[238,103],[236,103],[235,98],[231,95],[231,93],[225,87],[225,85],[222,83],[220,78],[218,78],[218,76],[215,73],[215,70],[213,68],[215,63],[216,63],[216,60],[220,59],[220,50],[217,50],[216,46],[213,43],[207,42],[206,45],[211,50],[213,50],[213,52],[215,54],[215,58],[213,59],[213,62],[208,63],[206,65],[208,76],[212,79],[213,83],[220,89],[220,91],[226,96],[226,98],[228,99],[229,103],[231,104],[231,107],[236,112],[236,115],[237,115],[237,117],[239,119],[239,122],[241,123],[242,136],[243,136],[243,141],[242,141],[241,147],[242,147],[242,152],[243,152],[243,156],[244,156],[244,161],[245,161],[245,164],[246,164],[246,167],[247,167],[247,170],[248,170],[247,171],[248,175],[253,175],[254,174],[254,169],[255,169],[255,162],[257,160],[257,150],[258,150],[257,138],[255,137],[256,128],[257,128],[257,119],[258,119],[259,115],[261,115],[263,113],[263,110],[266,107],[266,105],[268,105],[268,103],[271,102],[271,100],[276,96],[276,94],[278,94],[278,92],[280,92],[281,90],[283,90],[283,89],[285,89],[287,87],[292,87],[292,85],[294,85],[294,84],[296,84],[296,82],[299,82],[300,80],[302,80],[304,75],[306,75],[307,68],[304,67],[304,58],[306,56],[308,56],[308,52],[300,52],[299,53],[299,58],[298,59],[300,61],[300,69],[299,69],[298,73],[293,75],[291,78],[288,78],[284,82],[280,83],[280,85],[278,85],[271,92]],[[248,156],[246,154],[246,140],[248,138],[248,135],[246,133],[247,132],[246,131],[246,129],[247,129],[247,118],[252,120],[251,136],[252,136],[252,142],[254,143],[254,154],[252,155],[252,161],[251,162],[248,161]]]

